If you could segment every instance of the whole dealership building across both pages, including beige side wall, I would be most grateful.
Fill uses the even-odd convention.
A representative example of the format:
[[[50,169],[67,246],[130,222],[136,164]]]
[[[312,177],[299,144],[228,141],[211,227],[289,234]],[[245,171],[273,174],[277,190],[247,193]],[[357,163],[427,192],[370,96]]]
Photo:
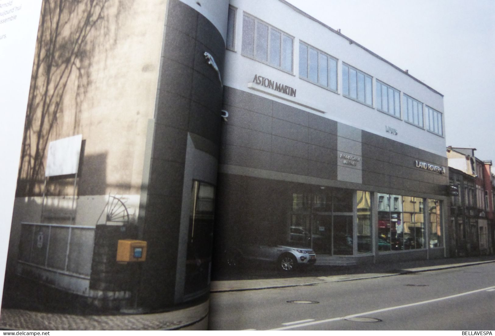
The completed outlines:
[[[155,310],[207,294],[241,243],[326,265],[448,255],[442,94],[285,0],[104,10],[77,75],[37,45],[29,130],[56,113],[24,139],[7,280]],[[121,240],[140,247],[117,262]]]

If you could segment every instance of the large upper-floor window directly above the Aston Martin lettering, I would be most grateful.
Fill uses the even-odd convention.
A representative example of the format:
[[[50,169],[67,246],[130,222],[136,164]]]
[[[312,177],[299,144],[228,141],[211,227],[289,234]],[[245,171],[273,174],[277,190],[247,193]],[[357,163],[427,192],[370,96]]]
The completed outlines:
[[[244,14],[242,54],[292,73],[294,38]]]

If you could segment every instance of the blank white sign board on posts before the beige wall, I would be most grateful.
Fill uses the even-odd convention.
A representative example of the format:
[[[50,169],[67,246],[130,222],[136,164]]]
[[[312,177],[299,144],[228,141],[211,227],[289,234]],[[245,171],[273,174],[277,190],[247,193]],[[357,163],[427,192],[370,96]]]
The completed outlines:
[[[76,174],[82,141],[83,136],[80,134],[50,142],[45,176]]]

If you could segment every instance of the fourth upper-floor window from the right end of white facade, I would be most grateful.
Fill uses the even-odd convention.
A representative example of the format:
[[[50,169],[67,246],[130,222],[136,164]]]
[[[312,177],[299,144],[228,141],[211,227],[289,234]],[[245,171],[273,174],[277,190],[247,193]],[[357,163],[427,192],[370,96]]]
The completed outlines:
[[[372,77],[345,63],[342,63],[342,94],[372,106]]]

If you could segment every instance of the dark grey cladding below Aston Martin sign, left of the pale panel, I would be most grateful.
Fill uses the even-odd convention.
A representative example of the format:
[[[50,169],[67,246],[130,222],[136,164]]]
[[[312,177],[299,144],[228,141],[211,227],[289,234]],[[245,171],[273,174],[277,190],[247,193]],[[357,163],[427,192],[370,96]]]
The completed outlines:
[[[224,108],[222,164],[337,179],[337,122],[229,87]]]

